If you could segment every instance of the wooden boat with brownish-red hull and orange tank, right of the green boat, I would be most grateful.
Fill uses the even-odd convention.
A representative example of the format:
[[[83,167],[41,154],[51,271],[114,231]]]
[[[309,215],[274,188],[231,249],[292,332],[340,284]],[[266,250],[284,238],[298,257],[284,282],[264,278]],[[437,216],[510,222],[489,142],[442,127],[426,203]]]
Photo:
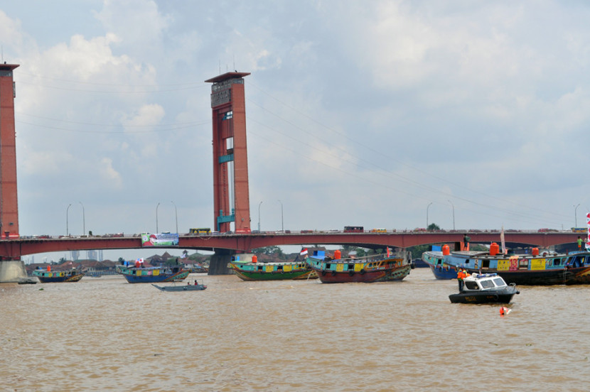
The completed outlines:
[[[372,283],[402,281],[412,269],[410,259],[406,251],[360,258],[340,258],[340,251],[335,251],[332,258],[323,251],[314,251],[306,261],[322,283]]]

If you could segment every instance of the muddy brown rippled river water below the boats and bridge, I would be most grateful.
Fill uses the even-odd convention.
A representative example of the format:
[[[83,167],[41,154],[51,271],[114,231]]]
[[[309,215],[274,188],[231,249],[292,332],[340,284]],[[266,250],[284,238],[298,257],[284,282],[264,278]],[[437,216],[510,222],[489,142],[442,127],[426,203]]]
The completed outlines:
[[[588,391],[590,285],[451,304],[456,281],[120,276],[0,285],[0,391]],[[163,283],[169,284],[169,283]]]

